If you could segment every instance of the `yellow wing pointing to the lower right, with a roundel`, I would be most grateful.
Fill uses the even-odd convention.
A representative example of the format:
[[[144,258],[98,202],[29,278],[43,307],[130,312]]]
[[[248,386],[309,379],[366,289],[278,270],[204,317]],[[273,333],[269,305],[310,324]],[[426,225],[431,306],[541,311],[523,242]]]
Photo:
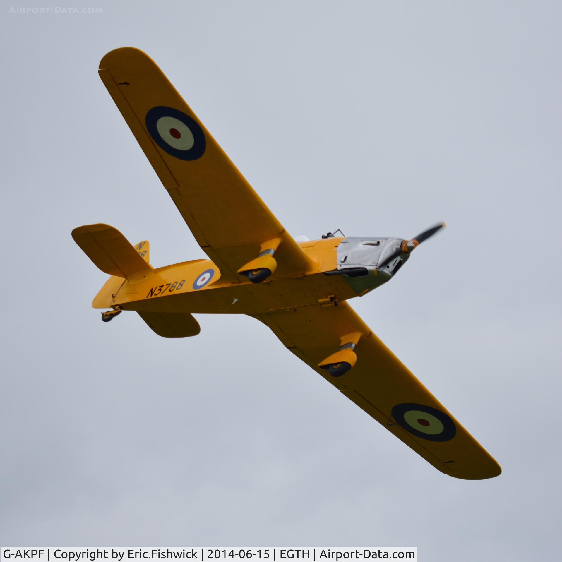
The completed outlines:
[[[492,478],[500,466],[414,377],[346,302],[260,315],[297,357],[441,472],[468,480]],[[320,369],[342,337],[356,341],[356,364],[333,377]],[[348,347],[345,353],[351,350]]]

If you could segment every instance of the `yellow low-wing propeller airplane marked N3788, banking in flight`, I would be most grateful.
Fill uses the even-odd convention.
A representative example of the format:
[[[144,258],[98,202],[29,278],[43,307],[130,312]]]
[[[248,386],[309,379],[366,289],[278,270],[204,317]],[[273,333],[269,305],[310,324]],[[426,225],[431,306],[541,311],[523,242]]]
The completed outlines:
[[[149,264],[106,224],[72,238],[111,275],[92,303],[110,321],[137,311],[165,338],[196,336],[192,314],[247,314],[442,473],[478,480],[500,466],[346,302],[396,275],[438,224],[413,239],[332,233],[297,242],[145,53],[107,53],[99,76],[209,260]]]

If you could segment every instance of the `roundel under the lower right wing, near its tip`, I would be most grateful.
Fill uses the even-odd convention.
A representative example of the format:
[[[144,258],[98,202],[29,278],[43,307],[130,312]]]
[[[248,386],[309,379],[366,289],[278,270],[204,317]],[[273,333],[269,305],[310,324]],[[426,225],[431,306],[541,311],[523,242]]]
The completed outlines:
[[[406,431],[429,441],[449,441],[456,434],[455,422],[447,414],[423,404],[397,404],[392,417]]]

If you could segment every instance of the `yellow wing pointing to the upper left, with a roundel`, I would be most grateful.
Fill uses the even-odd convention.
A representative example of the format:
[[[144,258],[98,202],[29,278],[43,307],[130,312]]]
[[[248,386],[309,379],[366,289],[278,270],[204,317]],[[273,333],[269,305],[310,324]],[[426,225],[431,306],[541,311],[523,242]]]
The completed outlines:
[[[131,47],[107,53],[99,75],[198,244],[239,283],[237,271],[274,241],[277,273],[301,275],[309,259],[162,71]]]

